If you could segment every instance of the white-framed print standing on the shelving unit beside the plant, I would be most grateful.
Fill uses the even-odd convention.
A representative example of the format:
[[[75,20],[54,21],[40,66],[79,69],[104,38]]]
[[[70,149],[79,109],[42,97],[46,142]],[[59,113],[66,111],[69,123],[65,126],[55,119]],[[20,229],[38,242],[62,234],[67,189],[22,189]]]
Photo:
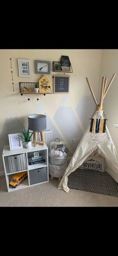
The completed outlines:
[[[21,135],[21,133],[8,134],[10,150],[23,147],[22,139],[19,135]]]

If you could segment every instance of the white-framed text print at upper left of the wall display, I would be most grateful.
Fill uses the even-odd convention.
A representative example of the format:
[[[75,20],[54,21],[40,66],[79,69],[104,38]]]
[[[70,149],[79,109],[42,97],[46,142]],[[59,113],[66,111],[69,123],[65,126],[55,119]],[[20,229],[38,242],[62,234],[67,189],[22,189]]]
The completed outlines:
[[[18,72],[20,77],[30,76],[30,60],[18,58]]]

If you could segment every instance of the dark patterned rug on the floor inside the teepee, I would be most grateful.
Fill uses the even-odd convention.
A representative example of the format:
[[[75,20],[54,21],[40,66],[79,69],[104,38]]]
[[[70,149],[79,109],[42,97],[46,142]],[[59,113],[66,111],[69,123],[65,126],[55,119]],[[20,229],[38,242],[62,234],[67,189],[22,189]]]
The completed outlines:
[[[118,183],[106,171],[77,168],[69,174],[67,186],[71,189],[118,196]]]

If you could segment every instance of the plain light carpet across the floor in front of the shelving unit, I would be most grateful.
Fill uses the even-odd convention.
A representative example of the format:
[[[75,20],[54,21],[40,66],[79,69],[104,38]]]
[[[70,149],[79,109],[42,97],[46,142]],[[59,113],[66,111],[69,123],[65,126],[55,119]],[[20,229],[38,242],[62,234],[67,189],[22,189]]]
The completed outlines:
[[[57,189],[58,178],[24,189],[7,192],[4,176],[0,176],[0,207],[2,206],[118,206],[118,197],[70,189]]]

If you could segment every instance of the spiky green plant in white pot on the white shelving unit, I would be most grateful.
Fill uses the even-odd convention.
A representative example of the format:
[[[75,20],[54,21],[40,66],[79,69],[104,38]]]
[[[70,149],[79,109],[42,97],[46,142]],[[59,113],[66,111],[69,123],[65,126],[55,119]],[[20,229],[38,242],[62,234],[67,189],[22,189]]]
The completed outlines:
[[[30,132],[29,128],[27,130],[22,130],[22,135],[19,135],[21,138],[23,138],[24,142],[23,142],[23,146],[25,148],[31,147],[31,136],[33,134],[34,131]],[[30,134],[31,133],[31,134]]]

